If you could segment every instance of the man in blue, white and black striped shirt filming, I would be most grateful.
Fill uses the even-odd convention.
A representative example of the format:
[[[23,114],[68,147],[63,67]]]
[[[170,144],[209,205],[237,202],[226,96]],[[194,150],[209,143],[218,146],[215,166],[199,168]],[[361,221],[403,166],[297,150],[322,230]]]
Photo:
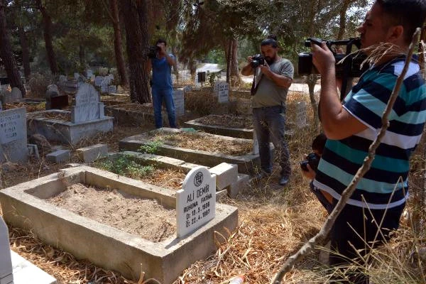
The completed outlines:
[[[324,43],[312,45],[313,63],[321,74],[321,121],[328,138],[313,185],[331,195],[334,205],[381,128],[381,116],[403,70],[411,38],[415,28],[422,27],[425,15],[424,0],[375,1],[359,27],[361,48],[367,48],[367,55],[376,47],[383,48],[383,43],[393,49],[380,53],[383,56],[361,76],[343,104],[337,94],[334,56]],[[389,231],[398,229],[408,197],[409,159],[420,142],[425,120],[425,82],[413,59],[371,169],[361,178],[332,229],[331,247],[337,253],[330,256],[331,265],[347,266],[348,258],[366,255],[369,248],[388,239]],[[363,273],[355,273],[350,280],[368,283]]]

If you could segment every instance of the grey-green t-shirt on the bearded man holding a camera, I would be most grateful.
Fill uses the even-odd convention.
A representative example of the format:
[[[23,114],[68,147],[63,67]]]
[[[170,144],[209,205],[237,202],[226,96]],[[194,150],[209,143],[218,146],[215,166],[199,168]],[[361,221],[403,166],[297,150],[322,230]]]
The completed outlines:
[[[294,68],[290,60],[281,58],[269,65],[271,71],[278,75],[283,75],[293,79]],[[278,87],[273,80],[261,73],[260,68],[255,70],[258,79],[256,94],[251,98],[251,107],[275,107],[285,105],[288,88]]]

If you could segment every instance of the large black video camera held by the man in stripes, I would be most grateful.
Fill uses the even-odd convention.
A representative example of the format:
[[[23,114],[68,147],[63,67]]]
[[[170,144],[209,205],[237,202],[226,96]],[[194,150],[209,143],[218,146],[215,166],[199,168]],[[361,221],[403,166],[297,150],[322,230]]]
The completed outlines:
[[[362,73],[368,70],[368,64],[364,64],[366,55],[357,51],[351,53],[352,46],[361,48],[360,38],[349,38],[346,40],[320,40],[318,38],[307,38],[305,40],[305,47],[309,48],[312,44],[321,45],[325,41],[329,50],[332,51],[334,59],[336,60],[336,77],[360,77]],[[346,45],[346,54],[338,54],[335,47],[339,45]],[[343,60],[344,59],[344,60]],[[342,62],[340,62],[343,60]],[[312,64],[312,53],[299,53],[298,60],[299,75],[318,74],[317,68]]]

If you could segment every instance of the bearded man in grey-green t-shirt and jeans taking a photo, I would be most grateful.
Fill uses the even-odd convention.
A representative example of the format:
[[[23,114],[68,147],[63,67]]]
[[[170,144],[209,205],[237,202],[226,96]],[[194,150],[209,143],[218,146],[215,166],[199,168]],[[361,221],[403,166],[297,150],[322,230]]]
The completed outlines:
[[[253,86],[253,127],[259,143],[261,158],[261,174],[272,173],[272,160],[269,142],[275,147],[275,155],[281,166],[280,185],[287,185],[290,174],[290,153],[284,139],[285,99],[288,88],[293,82],[293,65],[278,55],[278,44],[275,35],[269,36],[261,43],[261,53],[265,59],[264,65],[253,66],[253,58],[248,58],[248,64],[241,74],[255,75]]]

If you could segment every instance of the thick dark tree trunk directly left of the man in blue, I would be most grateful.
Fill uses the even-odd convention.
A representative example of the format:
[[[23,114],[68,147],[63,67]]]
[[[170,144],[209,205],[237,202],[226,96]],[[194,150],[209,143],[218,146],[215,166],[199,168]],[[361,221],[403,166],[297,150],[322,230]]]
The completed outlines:
[[[126,26],[127,57],[129,58],[130,99],[141,104],[151,102],[148,89],[148,27],[146,1],[120,1]]]

